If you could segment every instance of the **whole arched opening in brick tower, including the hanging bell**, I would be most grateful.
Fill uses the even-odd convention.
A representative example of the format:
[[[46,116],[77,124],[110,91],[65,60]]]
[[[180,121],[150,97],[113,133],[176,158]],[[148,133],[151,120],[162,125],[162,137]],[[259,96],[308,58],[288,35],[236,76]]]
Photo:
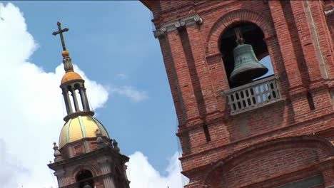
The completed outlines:
[[[219,40],[219,48],[222,53],[230,88],[236,88],[240,85],[251,83],[258,78],[273,74],[273,68],[264,37],[261,28],[251,22],[233,23],[223,31]],[[241,44],[251,46],[246,48],[246,46]],[[239,48],[238,51],[236,49],[237,46]],[[241,46],[245,48],[241,48]],[[261,64],[263,65],[263,70],[260,70],[261,73],[258,73],[258,67],[262,66]],[[255,66],[256,68],[249,68],[250,66]],[[268,73],[265,67],[268,68]],[[236,75],[238,76],[238,80],[236,79]]]

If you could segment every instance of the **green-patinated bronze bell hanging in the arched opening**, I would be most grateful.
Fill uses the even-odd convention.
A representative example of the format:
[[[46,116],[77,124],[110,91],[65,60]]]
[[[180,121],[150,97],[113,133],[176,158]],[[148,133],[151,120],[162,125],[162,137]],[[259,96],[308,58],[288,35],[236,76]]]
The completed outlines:
[[[234,69],[230,75],[230,80],[234,83],[243,83],[265,75],[268,68],[258,62],[253,47],[244,44],[241,32],[236,29],[238,46],[233,49]]]

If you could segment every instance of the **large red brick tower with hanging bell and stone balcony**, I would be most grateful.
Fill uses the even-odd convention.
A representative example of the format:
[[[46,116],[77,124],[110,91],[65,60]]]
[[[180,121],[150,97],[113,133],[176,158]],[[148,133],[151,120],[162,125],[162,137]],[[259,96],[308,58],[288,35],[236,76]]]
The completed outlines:
[[[334,187],[334,1],[141,1],[186,188]],[[273,75],[261,59],[269,57]]]

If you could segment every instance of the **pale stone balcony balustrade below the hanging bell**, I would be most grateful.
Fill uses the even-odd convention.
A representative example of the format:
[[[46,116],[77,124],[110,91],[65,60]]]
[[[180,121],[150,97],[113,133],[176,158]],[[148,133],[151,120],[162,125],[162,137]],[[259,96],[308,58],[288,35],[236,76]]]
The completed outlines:
[[[224,95],[228,97],[231,115],[244,113],[283,100],[275,75],[226,90]]]

